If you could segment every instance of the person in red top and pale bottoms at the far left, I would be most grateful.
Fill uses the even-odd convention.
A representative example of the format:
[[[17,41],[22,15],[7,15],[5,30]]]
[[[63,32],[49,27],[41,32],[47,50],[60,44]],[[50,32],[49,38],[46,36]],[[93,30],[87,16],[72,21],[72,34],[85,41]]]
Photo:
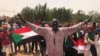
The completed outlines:
[[[7,31],[7,24],[2,25],[2,32],[0,32],[3,56],[6,56],[6,48],[9,50],[9,56],[13,56],[11,49],[10,32]]]

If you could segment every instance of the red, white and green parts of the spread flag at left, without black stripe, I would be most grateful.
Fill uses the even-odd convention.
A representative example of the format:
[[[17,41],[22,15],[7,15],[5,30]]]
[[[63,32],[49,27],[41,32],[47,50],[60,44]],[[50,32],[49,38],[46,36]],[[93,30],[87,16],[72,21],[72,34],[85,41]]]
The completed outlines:
[[[26,39],[28,40],[29,38],[32,38],[33,36],[38,35],[34,31],[32,31],[29,27],[25,26],[23,28],[19,28],[13,31],[11,34],[11,37],[13,41],[18,44],[20,41]]]

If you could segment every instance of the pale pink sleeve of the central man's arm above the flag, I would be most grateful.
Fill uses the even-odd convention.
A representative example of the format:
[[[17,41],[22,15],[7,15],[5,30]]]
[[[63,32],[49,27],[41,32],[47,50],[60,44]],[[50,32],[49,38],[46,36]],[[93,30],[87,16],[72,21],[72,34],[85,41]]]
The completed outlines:
[[[41,36],[44,36],[46,34],[46,28],[37,26],[33,23],[27,22],[27,26],[29,26],[33,31],[38,33]]]

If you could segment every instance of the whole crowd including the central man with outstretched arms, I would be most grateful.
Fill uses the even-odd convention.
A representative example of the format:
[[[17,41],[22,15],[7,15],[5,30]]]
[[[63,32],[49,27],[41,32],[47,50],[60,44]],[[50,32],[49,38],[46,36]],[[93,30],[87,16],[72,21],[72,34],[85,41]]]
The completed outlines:
[[[1,23],[0,56],[6,56],[6,48],[9,56],[17,55],[17,52],[21,51],[21,45],[25,53],[29,52],[33,55],[35,51],[35,53],[40,52],[41,56],[89,56],[90,52],[92,56],[99,56],[97,47],[100,45],[100,23],[88,24],[91,17],[79,24],[69,22],[65,26],[60,25],[57,19],[53,19],[51,24],[46,21],[33,24],[20,15],[18,18],[10,23],[6,20]],[[33,37],[33,41],[30,41],[32,44],[24,41],[15,44],[11,38],[12,31],[25,25],[39,35]]]

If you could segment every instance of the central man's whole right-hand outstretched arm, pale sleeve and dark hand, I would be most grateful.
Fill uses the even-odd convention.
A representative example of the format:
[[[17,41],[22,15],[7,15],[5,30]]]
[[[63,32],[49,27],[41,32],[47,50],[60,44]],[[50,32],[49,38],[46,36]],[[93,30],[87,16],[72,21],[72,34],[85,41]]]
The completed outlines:
[[[92,16],[89,17],[88,19],[86,19],[85,21],[80,22],[80,23],[78,23],[76,25],[73,25],[71,27],[65,27],[65,28],[63,28],[64,34],[66,36],[68,36],[70,34],[73,34],[74,32],[78,31],[84,24],[87,24],[87,22],[89,22],[91,19],[92,19]]]

